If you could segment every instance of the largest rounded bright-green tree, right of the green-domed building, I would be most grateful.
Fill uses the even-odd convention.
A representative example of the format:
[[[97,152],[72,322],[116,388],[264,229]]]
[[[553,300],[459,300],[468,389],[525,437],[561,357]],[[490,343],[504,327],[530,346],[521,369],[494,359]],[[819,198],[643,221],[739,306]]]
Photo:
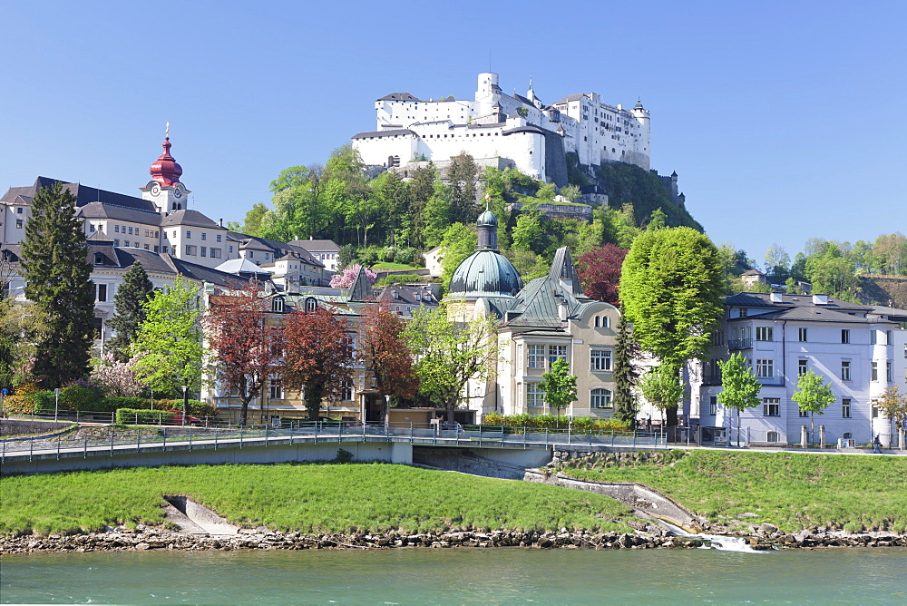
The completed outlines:
[[[723,290],[715,245],[691,228],[643,231],[621,268],[620,299],[633,336],[675,370],[707,357],[724,314]],[[677,425],[676,403],[666,413],[668,425]]]

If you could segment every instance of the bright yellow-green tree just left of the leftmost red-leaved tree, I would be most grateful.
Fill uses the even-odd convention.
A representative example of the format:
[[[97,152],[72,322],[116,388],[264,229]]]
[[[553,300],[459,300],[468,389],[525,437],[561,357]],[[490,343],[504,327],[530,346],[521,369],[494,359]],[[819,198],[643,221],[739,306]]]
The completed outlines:
[[[207,348],[201,325],[200,289],[177,276],[168,290],[155,291],[145,304],[145,321],[132,343],[139,357],[134,368],[155,391],[182,393],[183,417],[189,415],[188,394],[201,389]]]

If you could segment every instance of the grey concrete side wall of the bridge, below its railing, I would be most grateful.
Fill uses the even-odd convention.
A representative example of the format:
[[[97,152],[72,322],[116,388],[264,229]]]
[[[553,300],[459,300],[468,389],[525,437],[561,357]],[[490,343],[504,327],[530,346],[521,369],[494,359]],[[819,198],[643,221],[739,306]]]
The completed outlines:
[[[336,458],[337,449],[353,454],[354,461],[383,461],[385,463],[410,464],[413,462],[413,445],[385,442],[321,442],[317,444],[246,446],[213,450],[144,451],[141,453],[118,452],[110,454],[55,458],[34,457],[15,460],[7,457],[3,464],[3,475],[10,474],[51,474],[61,471],[111,469],[113,467],[157,467],[159,465],[188,464],[264,464],[288,463],[290,461],[330,461]]]

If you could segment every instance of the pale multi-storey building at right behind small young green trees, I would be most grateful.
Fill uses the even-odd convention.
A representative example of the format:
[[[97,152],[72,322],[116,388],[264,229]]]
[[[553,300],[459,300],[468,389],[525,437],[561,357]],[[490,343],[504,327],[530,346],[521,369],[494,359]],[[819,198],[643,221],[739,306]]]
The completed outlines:
[[[887,443],[890,423],[878,415],[873,401],[890,385],[904,390],[898,372],[904,357],[903,331],[873,308],[827,295],[740,293],[725,299],[727,317],[714,334],[712,357],[694,364],[690,375],[688,418],[704,426],[734,427],[736,412],[717,402],[721,375],[717,360],[742,353],[762,384],[761,404],[740,415],[751,443],[797,444],[801,428],[810,425],[791,399],[797,377],[808,370],[830,383],[834,404],[814,417],[813,441],[825,427],[825,441],[839,438],[868,444],[874,435]],[[733,438],[732,438],[733,439]]]

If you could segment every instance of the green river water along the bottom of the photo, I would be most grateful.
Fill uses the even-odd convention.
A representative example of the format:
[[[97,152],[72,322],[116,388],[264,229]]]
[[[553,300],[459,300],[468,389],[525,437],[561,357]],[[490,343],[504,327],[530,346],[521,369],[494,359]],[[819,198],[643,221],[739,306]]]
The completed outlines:
[[[5,556],[4,603],[907,604],[907,550],[398,549]]]

